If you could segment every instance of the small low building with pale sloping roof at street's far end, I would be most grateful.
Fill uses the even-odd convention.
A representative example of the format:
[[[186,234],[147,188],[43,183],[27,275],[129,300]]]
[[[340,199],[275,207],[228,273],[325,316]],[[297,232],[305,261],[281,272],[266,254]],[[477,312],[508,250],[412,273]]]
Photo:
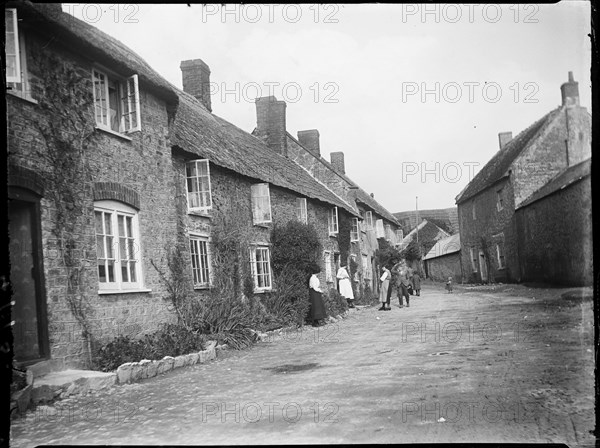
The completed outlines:
[[[460,283],[460,234],[438,240],[423,257],[423,267],[425,276],[431,280],[445,282],[452,277],[454,283]]]

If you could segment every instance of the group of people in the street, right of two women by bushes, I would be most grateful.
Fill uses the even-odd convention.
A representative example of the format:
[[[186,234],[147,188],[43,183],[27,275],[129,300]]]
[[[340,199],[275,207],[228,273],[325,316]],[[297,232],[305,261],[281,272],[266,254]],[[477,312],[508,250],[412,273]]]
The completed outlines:
[[[396,288],[400,308],[404,307],[403,299],[406,299],[406,306],[410,307],[410,296],[421,295],[421,276],[407,265],[406,260],[399,261],[391,270],[384,266],[381,271],[382,275],[379,279],[381,281],[379,289],[381,308],[379,311],[391,311],[390,300],[394,288]]]

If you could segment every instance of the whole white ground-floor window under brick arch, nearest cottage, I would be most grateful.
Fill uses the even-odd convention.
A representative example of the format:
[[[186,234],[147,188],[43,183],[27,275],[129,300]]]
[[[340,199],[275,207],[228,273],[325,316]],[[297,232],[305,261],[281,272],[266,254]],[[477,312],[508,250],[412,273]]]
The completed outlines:
[[[100,290],[139,289],[142,285],[138,214],[116,201],[94,207]]]

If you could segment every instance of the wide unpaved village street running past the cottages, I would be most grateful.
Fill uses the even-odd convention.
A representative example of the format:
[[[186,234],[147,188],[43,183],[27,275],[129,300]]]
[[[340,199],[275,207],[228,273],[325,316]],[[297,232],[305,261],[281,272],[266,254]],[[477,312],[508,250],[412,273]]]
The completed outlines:
[[[592,446],[592,302],[426,283],[209,364],[39,408],[11,445],[564,442]],[[57,409],[62,407],[62,411]]]

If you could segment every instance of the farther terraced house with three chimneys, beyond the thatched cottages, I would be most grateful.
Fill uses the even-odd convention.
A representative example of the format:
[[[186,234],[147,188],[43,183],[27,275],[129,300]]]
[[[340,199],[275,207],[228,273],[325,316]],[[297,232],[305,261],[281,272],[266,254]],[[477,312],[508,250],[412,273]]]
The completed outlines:
[[[366,286],[377,292],[380,267],[376,263],[375,251],[379,239],[387,240],[393,246],[399,242],[399,223],[394,216],[379,204],[373,195],[367,194],[346,174],[344,153],[330,153],[331,162],[321,156],[319,131],[309,129],[298,131],[295,138],[286,128],[286,103],[275,97],[256,100],[257,126],[253,134],[261,138],[277,154],[282,154],[331,191],[352,204],[360,217],[351,218],[351,257],[358,265],[358,293]],[[361,219],[362,218],[362,219]],[[326,251],[325,257],[333,260],[333,276],[328,282],[335,282],[335,272],[341,261],[340,253]]]

